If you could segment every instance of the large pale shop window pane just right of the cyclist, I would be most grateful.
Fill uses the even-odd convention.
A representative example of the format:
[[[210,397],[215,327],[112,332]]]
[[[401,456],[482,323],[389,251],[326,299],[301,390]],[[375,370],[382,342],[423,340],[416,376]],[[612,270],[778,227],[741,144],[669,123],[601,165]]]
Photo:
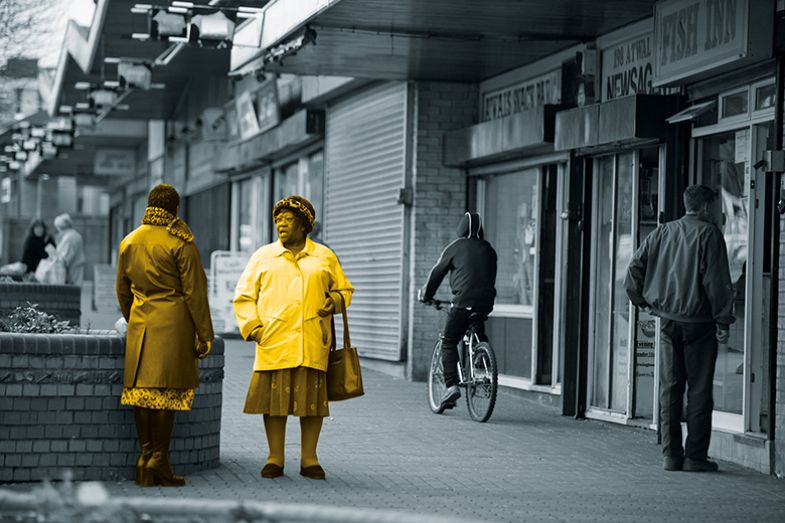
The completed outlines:
[[[485,234],[498,255],[497,305],[534,305],[539,174],[529,169],[485,183]]]

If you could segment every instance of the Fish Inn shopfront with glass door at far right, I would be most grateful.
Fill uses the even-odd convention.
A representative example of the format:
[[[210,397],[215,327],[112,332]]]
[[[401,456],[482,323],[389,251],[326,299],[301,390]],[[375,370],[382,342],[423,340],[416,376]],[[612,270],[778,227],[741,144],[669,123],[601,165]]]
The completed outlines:
[[[667,17],[687,2],[657,4],[655,31],[667,32]],[[763,170],[773,148],[775,65],[771,53],[771,10],[766,2],[739,1],[723,13],[727,31],[716,33],[699,8],[691,38],[711,44],[704,54],[674,54],[661,38],[655,82],[684,86],[688,106],[670,118],[685,129],[689,183],[715,188],[724,215],[723,235],[736,290],[736,322],[721,346],[714,375],[710,454],[769,471],[772,426],[769,378],[772,185]],[[716,33],[716,34],[715,34]],[[704,80],[711,76],[710,80]]]

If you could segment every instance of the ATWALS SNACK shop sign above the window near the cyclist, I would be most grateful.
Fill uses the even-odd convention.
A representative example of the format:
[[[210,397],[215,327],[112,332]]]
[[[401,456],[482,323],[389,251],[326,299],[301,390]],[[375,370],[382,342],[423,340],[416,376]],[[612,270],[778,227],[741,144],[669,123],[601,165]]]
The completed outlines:
[[[496,120],[545,104],[561,103],[561,64],[543,75],[481,94],[482,121]]]

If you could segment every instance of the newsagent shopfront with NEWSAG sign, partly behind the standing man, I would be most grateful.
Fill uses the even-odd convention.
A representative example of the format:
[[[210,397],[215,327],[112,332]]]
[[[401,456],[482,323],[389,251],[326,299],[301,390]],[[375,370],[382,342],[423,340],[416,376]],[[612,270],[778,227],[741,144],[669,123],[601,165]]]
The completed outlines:
[[[585,379],[580,414],[656,428],[658,322],[632,306],[624,278],[633,252],[675,217],[677,136],[665,117],[679,100],[653,85],[653,20],[598,38],[600,103],[556,116],[556,149],[572,151],[589,195],[584,253]],[[586,281],[587,280],[587,281]],[[582,342],[583,343],[583,342]]]

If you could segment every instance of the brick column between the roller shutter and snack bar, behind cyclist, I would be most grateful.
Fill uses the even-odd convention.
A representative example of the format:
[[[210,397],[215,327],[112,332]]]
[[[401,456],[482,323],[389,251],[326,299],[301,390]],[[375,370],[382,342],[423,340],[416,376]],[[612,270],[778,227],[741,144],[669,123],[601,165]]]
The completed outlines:
[[[442,315],[417,303],[422,287],[444,247],[455,239],[458,220],[466,211],[466,173],[445,167],[444,133],[477,123],[475,84],[419,82],[414,86],[412,180],[414,208],[410,231],[409,354],[406,373],[425,380]],[[450,296],[449,282],[437,296]]]

